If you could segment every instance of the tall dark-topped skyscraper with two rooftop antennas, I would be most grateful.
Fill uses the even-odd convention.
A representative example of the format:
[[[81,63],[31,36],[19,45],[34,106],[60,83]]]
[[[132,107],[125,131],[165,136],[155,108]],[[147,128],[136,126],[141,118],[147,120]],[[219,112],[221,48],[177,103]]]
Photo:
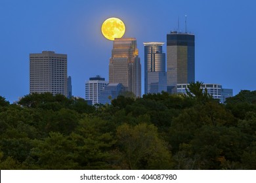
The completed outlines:
[[[195,82],[195,35],[172,31],[167,34],[167,92],[190,82]]]

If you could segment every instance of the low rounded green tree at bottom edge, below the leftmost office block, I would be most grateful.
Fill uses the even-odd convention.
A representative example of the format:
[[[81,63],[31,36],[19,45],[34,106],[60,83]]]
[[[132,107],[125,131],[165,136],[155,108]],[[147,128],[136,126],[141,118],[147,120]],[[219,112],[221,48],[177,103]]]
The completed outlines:
[[[77,169],[75,143],[60,133],[49,133],[44,141],[35,140],[30,156],[24,161],[26,169]]]

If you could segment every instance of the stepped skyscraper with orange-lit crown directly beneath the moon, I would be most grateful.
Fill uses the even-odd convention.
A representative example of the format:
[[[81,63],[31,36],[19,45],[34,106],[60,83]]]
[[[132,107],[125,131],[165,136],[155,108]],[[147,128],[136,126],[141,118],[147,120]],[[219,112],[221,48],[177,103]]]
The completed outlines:
[[[135,38],[114,40],[109,79],[110,83],[121,83],[126,91],[141,96],[141,66]]]

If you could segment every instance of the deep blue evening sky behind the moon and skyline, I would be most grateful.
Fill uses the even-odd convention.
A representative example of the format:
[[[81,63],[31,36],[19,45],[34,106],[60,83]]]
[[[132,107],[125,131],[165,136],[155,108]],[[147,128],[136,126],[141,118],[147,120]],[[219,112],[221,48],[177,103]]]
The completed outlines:
[[[112,16],[125,23],[125,37],[137,39],[144,80],[142,42],[166,42],[178,18],[184,31],[185,14],[196,35],[196,80],[234,94],[256,90],[255,7],[253,0],[0,0],[0,95],[12,102],[28,94],[29,54],[53,50],[68,54],[73,95],[85,97],[89,77],[108,80],[112,41],[100,27]]]

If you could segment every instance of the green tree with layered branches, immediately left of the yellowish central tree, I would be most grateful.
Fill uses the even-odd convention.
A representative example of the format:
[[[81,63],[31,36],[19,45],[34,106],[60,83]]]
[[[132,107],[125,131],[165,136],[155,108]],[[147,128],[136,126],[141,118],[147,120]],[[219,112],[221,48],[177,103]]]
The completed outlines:
[[[76,144],[74,152],[80,169],[113,169],[115,157],[111,150],[116,141],[111,129],[107,121],[97,117],[85,115],[79,121],[70,138]]]

